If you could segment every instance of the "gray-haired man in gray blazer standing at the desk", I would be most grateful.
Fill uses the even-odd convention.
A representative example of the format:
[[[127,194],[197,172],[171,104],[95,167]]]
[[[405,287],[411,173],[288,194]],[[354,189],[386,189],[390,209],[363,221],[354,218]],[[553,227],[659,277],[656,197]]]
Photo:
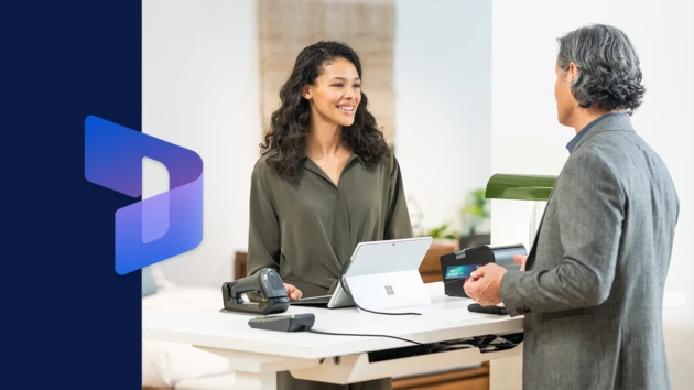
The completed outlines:
[[[524,315],[524,389],[669,389],[662,302],[680,212],[670,174],[635,132],[639,59],[618,29],[559,40],[555,98],[570,156],[521,272],[476,271],[466,293]]]

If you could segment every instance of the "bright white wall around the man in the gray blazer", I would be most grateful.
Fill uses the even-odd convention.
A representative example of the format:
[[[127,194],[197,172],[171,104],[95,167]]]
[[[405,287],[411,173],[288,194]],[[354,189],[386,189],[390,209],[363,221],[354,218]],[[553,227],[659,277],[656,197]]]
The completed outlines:
[[[647,94],[632,122],[665,161],[681,199],[666,291],[685,293],[685,307],[668,308],[665,335],[674,389],[691,388],[694,350],[694,63],[693,2],[502,1],[492,6],[494,173],[559,174],[573,130],[556,122],[554,63],[557,36],[588,23],[622,29],[640,55]],[[528,236],[524,203],[492,202],[492,240]]]

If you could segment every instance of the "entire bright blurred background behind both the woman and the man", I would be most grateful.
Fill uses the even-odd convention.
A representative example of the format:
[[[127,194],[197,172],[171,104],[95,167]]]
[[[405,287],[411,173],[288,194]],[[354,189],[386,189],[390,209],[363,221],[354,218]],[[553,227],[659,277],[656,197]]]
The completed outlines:
[[[632,122],[682,202],[666,291],[687,304],[664,315],[673,387],[687,388],[693,15],[684,0],[144,0],[142,130],[204,161],[204,240],[161,269],[174,283],[215,289],[241,277],[232,263],[248,243],[259,143],[296,55],[318,40],[360,55],[362,90],[400,160],[418,235],[529,246],[528,203],[489,202],[484,188],[495,173],[559,174],[574,132],[556,121],[556,37],[614,24],[635,43],[647,87]],[[145,196],[167,189],[165,167],[144,170]]]

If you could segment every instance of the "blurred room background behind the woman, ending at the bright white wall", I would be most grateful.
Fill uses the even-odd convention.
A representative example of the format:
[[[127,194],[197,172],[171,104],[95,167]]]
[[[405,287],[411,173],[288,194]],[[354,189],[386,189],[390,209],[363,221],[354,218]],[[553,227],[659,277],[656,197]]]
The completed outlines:
[[[205,170],[204,241],[165,262],[172,280],[217,286],[232,275],[258,145],[296,55],[319,40],[361,58],[415,232],[489,240],[479,189],[491,174],[491,2],[147,0],[142,129],[196,151]],[[150,193],[167,189],[158,170],[145,171]]]

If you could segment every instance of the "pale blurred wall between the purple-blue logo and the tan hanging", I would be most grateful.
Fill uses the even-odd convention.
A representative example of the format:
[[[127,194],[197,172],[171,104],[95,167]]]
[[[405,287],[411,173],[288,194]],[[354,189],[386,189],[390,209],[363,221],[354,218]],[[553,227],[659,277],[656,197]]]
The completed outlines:
[[[254,0],[142,2],[142,131],[204,163],[204,239],[162,262],[173,282],[217,288],[247,248],[261,133],[257,35]],[[163,176],[147,185],[161,188]]]

